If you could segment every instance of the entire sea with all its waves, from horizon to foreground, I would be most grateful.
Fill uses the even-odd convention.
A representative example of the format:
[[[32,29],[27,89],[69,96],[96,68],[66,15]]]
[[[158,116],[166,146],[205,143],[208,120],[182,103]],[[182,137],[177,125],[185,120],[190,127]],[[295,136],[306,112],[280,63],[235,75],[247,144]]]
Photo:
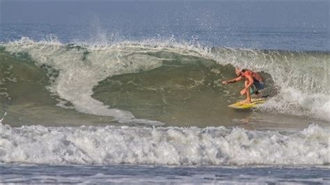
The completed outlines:
[[[202,23],[0,24],[0,182],[329,183],[327,28]]]

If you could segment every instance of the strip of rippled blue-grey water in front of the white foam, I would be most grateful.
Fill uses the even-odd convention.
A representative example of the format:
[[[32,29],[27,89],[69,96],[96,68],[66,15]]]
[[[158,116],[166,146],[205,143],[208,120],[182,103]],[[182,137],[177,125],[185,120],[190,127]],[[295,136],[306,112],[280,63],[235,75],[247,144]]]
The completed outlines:
[[[3,183],[19,184],[327,184],[329,168],[171,166],[0,166]],[[19,175],[18,175],[19,174]],[[56,174],[56,176],[54,176]]]

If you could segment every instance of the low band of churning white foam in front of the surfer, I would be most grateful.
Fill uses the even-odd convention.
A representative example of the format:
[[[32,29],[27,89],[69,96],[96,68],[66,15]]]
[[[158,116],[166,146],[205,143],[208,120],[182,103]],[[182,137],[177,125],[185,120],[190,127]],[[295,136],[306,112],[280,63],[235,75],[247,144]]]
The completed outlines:
[[[47,164],[329,165],[329,129],[246,131],[225,127],[10,127],[0,161]]]

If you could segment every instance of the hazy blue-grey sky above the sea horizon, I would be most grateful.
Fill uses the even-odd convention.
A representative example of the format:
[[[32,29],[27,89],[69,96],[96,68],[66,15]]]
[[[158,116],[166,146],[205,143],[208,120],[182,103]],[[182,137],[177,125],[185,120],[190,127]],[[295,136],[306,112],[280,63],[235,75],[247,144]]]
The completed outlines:
[[[1,23],[329,28],[329,1],[0,2]]]

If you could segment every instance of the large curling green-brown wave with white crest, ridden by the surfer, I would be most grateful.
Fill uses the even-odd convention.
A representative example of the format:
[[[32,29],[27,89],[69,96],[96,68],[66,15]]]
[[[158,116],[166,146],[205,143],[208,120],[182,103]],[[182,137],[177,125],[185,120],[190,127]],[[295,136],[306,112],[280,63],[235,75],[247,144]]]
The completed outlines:
[[[15,94],[18,84],[32,81],[39,92],[35,102],[54,104],[47,98],[52,96],[61,108],[120,123],[162,125],[169,117],[189,122],[175,118],[228,115],[226,106],[240,98],[242,84],[222,86],[221,81],[235,77],[235,66],[261,72],[276,92],[260,111],[330,120],[329,52],[207,48],[171,40],[65,45],[29,38],[1,48],[1,61],[12,60],[1,82],[2,98],[9,102],[25,96]]]

